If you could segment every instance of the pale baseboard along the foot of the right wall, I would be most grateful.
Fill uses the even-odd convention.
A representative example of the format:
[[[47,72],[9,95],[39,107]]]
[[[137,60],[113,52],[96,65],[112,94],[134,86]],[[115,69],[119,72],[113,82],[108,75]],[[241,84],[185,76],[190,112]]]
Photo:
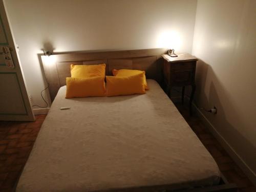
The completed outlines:
[[[224,137],[215,129],[214,125],[204,116],[204,114],[197,108],[196,104],[193,103],[193,111],[197,113],[198,117],[203,121],[208,130],[215,136],[215,138],[221,143],[221,145],[225,148],[226,152],[230,155],[230,157],[240,166],[240,168],[244,171],[245,175],[251,180],[251,182],[256,186],[256,174],[250,167],[244,162],[244,160],[234,151],[232,146],[225,140]]]

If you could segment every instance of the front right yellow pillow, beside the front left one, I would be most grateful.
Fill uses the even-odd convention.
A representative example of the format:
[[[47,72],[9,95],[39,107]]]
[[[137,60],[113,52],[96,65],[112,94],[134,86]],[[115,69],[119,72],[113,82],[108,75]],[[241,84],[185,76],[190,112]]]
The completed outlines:
[[[106,76],[106,96],[144,94],[144,73],[127,77]]]

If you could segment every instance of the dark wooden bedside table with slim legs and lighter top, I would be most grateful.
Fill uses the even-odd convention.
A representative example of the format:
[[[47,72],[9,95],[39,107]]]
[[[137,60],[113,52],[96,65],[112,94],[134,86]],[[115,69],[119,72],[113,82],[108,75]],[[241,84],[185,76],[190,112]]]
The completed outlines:
[[[172,87],[182,87],[182,104],[184,102],[185,86],[191,86],[189,99],[189,112],[192,114],[191,104],[196,91],[195,73],[198,58],[188,53],[177,54],[178,57],[170,57],[165,54],[163,63],[164,82],[166,94],[170,97]]]

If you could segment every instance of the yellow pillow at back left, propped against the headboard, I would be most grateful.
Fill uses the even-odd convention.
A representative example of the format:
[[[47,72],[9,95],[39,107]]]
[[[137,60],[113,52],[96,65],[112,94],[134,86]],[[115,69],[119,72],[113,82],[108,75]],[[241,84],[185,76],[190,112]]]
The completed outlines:
[[[71,77],[86,78],[86,77],[98,77],[105,76],[105,64],[100,65],[73,65],[70,66]]]

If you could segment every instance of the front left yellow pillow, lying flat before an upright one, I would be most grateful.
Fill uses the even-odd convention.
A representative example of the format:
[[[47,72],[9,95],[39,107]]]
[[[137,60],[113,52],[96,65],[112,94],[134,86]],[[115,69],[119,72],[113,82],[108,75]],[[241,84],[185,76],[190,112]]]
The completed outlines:
[[[66,78],[66,99],[73,97],[105,96],[104,77]]]

